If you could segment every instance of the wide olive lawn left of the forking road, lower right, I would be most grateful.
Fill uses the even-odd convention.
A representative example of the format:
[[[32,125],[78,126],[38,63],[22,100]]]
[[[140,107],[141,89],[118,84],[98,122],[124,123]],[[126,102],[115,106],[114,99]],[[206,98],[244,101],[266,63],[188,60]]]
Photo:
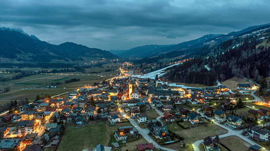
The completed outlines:
[[[227,130],[215,125],[199,126],[192,129],[176,131],[176,134],[185,138],[186,144],[192,144],[196,140],[204,139],[207,136],[216,136],[228,133]]]

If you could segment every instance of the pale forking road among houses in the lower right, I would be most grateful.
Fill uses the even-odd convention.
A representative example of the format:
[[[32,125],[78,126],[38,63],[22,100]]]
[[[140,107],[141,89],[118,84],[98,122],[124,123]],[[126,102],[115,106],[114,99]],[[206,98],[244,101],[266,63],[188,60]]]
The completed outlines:
[[[199,110],[199,109],[198,109],[198,110]],[[198,111],[198,110],[197,110],[197,111]],[[202,115],[202,117],[206,117],[203,113],[200,113],[200,114]],[[214,124],[216,124],[216,125],[218,125],[218,126],[224,128],[224,129],[226,129],[226,130],[228,131],[227,134],[218,135],[219,138],[224,138],[224,137],[228,137],[228,136],[238,136],[239,138],[241,138],[241,139],[245,140],[246,142],[250,143],[251,145],[258,145],[258,146],[260,146],[259,144],[253,142],[253,141],[249,138],[250,136],[244,136],[244,135],[242,134],[243,130],[237,131],[237,130],[232,129],[232,128],[229,127],[229,126],[219,124],[219,123],[217,122],[217,120],[216,120],[215,118],[212,118],[212,117],[209,117],[209,119],[211,119],[211,120],[214,119],[214,121],[213,121]],[[206,137],[207,137],[207,136],[206,136]],[[214,137],[215,137],[215,136],[214,136]],[[214,137],[212,137],[212,138],[214,138]],[[193,145],[194,145],[194,146],[193,146],[193,150],[194,150],[194,151],[200,151],[200,144],[201,144],[201,143],[203,143],[203,139],[195,141],[195,142],[193,143]],[[269,150],[266,149],[265,151],[269,151]]]

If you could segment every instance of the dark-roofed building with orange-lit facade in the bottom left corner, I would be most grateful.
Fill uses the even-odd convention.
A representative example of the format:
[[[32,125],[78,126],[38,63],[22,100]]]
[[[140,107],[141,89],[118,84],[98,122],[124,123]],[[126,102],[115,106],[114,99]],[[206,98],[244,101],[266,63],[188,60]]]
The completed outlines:
[[[23,146],[21,139],[1,139],[0,140],[0,151],[7,151],[9,149],[17,148],[21,151]]]

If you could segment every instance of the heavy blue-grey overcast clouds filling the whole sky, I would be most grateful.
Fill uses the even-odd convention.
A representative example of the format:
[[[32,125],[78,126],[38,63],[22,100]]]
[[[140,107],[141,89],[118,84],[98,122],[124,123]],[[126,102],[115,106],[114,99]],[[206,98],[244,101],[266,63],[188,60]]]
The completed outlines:
[[[1,0],[0,26],[104,50],[173,44],[269,23],[268,0]]]

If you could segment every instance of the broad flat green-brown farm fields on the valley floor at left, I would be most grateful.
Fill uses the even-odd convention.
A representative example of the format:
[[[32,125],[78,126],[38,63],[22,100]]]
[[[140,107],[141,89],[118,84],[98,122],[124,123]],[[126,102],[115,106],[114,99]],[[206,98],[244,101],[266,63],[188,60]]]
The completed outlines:
[[[56,96],[65,92],[75,90],[85,85],[93,85],[94,83],[102,82],[104,80],[115,77],[117,76],[117,74],[119,74],[119,72],[116,71],[117,70],[116,67],[88,69],[88,72],[90,72],[91,70],[95,72],[103,70],[105,71],[105,69],[112,69],[112,70],[115,69],[115,71],[104,73],[102,72],[103,77],[97,76],[96,73],[80,73],[80,72],[68,74],[54,73],[54,74],[32,75],[17,80],[2,82],[0,83],[0,89],[10,87],[10,91],[7,93],[0,94],[0,101],[20,100],[25,99],[26,97],[29,100],[35,100],[36,96],[39,95],[40,93],[43,93],[42,95],[40,95],[41,97],[44,97],[45,94],[49,94],[50,96]],[[0,73],[0,74],[7,74],[7,73]],[[80,81],[64,84],[65,80],[69,80],[72,78],[80,79]],[[57,88],[51,89],[44,88],[46,85],[50,85],[51,83],[57,82],[62,83],[58,85]]]

